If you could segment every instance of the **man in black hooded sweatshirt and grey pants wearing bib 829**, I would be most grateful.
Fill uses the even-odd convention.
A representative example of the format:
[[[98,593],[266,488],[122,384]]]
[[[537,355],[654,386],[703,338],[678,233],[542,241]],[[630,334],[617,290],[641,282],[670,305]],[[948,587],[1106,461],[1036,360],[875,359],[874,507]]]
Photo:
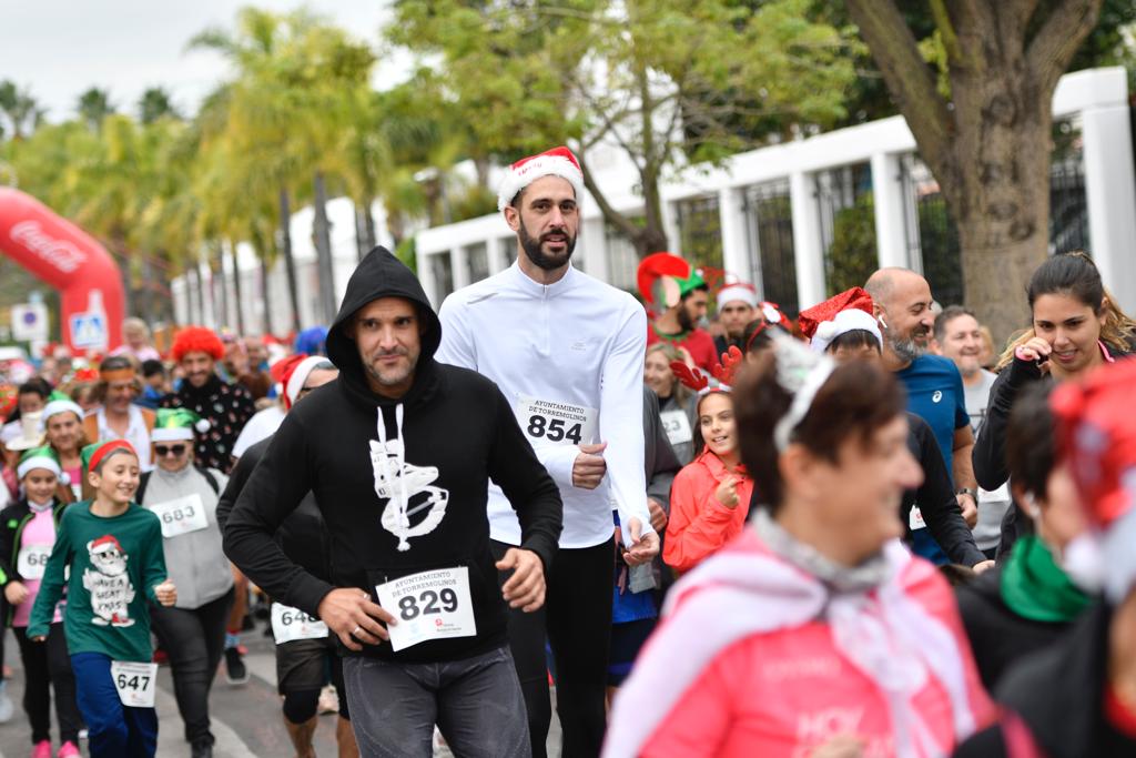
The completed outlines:
[[[241,492],[225,550],[273,598],[318,615],[348,649],[364,755],[527,756],[506,605],[536,610],[560,495],[488,380],[435,363],[441,324],[418,281],[373,250],[327,338],[340,377],[292,409]],[[506,492],[520,545],[494,564],[486,490]],[[334,584],[274,541],[307,492],[327,525]],[[496,572],[511,570],[498,589]]]

